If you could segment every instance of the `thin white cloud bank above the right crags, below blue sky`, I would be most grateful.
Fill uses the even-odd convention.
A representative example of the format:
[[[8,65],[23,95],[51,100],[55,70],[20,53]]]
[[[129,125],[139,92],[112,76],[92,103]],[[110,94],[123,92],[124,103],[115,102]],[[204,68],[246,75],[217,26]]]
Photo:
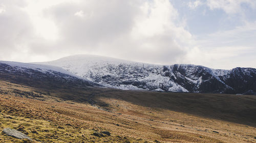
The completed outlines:
[[[197,47],[190,49],[185,61],[211,68],[256,68],[256,22],[246,22],[232,30],[198,36]]]

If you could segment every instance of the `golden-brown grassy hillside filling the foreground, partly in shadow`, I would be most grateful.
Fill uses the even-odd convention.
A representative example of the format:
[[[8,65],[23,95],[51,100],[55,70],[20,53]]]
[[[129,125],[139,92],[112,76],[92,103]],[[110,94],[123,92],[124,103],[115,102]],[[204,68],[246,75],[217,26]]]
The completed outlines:
[[[32,142],[256,142],[255,96],[45,87],[1,80],[0,132]],[[0,142],[30,141],[0,133]]]

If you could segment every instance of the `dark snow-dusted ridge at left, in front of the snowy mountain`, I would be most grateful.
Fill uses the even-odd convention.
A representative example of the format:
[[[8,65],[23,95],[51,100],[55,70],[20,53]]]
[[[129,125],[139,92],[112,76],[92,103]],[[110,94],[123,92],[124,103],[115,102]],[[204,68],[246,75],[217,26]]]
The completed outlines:
[[[0,61],[0,79],[48,89],[61,86],[93,87],[99,84],[88,81],[65,69],[50,65]],[[40,81],[40,83],[38,83]]]

